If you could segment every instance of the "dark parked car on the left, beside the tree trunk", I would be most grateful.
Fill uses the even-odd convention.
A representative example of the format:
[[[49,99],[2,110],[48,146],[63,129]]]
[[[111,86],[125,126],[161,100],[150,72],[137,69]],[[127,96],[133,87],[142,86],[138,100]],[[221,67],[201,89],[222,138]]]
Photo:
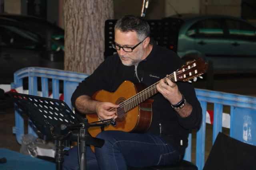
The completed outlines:
[[[0,84],[13,82],[14,72],[24,67],[63,69],[64,41],[49,35],[25,21],[0,17]]]

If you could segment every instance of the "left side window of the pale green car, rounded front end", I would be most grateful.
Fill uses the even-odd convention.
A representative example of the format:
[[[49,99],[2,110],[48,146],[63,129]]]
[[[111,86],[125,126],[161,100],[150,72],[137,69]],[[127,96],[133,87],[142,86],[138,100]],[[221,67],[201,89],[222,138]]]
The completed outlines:
[[[186,34],[193,37],[223,37],[224,30],[220,20],[208,19],[192,25]]]

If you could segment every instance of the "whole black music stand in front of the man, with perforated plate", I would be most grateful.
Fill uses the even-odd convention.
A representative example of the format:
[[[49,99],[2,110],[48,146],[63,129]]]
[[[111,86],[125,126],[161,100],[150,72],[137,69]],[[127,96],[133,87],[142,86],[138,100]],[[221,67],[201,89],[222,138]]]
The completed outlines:
[[[68,105],[61,100],[14,92],[9,92],[9,94],[18,107],[31,119],[40,133],[46,136],[52,136],[57,141],[57,170],[62,170],[62,162],[64,161],[64,147],[62,144],[70,135],[76,135],[80,139],[80,169],[86,169],[86,145],[102,147],[104,144],[103,139],[92,137],[88,133],[88,128],[90,126],[106,126],[109,123],[100,122],[90,124],[87,119],[73,113]],[[77,132],[78,129],[79,131]]]

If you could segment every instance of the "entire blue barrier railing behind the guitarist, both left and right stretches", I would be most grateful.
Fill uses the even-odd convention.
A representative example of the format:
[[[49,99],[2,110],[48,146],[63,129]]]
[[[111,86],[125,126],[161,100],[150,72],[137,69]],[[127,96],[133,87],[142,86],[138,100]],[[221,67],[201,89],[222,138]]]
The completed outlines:
[[[79,82],[84,80],[88,74],[56,70],[50,68],[28,67],[14,73],[14,83],[12,89],[23,93],[23,79],[28,78],[28,94],[39,96],[38,78],[41,80],[42,97],[49,97],[49,91],[52,92],[52,98],[58,99],[61,93],[64,94],[64,102],[71,106],[71,96]],[[51,84],[52,90],[49,90]],[[215,92],[211,90],[196,89],[196,95],[202,106],[203,118],[200,129],[196,132],[196,166],[202,170],[205,162],[205,137],[206,137],[206,111],[208,104],[214,104],[214,123],[213,123],[213,143],[222,132],[222,114],[223,106],[230,107],[230,137],[234,137],[245,143],[256,145],[256,98],[230,94],[224,92]],[[15,109],[15,127],[13,133],[16,133],[16,139],[21,144],[21,138],[24,135],[23,115]],[[246,130],[247,128],[247,130]],[[28,124],[28,133],[36,135],[33,131],[32,123]],[[253,137],[254,138],[253,138]],[[184,156],[185,160],[191,161],[192,134],[188,137],[188,147]]]

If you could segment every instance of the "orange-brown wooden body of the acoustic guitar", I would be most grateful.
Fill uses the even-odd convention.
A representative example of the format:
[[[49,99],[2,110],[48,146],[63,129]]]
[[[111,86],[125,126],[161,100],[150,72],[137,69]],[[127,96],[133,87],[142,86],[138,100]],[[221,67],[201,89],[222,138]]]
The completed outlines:
[[[136,95],[138,92],[144,90],[143,84],[134,84],[130,81],[124,81],[115,92],[108,92],[100,90],[96,92],[92,98],[101,102],[111,102],[114,104],[120,104]],[[104,127],[104,130],[116,130],[125,132],[137,132],[143,133],[148,130],[152,121],[152,102],[154,100],[146,100],[138,106],[130,109],[125,113],[118,113],[116,118],[116,126],[109,125]],[[88,122],[99,121],[97,114],[87,114],[86,118]],[[101,132],[100,127],[90,127],[88,129],[92,137],[96,137]]]

